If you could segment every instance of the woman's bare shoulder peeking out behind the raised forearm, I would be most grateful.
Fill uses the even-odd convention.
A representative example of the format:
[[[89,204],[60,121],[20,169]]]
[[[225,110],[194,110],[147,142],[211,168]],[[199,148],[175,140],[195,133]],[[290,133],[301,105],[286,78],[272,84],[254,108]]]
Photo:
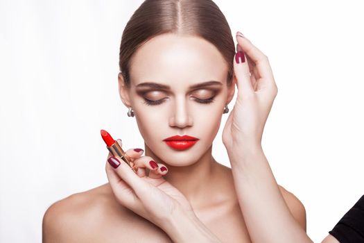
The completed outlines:
[[[296,221],[300,224],[300,226],[302,226],[304,231],[306,231],[306,209],[304,208],[303,203],[297,198],[297,196],[295,196],[295,194],[289,192],[281,185],[278,186],[293,217],[295,217]]]

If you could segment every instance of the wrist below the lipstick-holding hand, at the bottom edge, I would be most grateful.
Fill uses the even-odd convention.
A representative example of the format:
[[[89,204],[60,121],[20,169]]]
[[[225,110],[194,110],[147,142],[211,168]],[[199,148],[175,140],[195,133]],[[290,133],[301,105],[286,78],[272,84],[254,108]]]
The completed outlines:
[[[221,242],[209,229],[202,224],[196,214],[186,210],[175,210],[166,222],[164,232],[173,242]]]

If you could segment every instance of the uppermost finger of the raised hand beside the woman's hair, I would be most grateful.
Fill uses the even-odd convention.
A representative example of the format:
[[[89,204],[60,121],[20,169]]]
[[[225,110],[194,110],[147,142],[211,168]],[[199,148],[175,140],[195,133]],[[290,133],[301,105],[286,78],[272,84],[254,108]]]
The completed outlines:
[[[255,67],[259,73],[259,78],[266,78],[267,80],[272,80],[272,69],[270,68],[268,57],[264,55],[261,50],[250,42],[246,37],[243,37],[239,33],[236,33],[236,41],[239,46],[243,49],[245,55],[254,62]]]

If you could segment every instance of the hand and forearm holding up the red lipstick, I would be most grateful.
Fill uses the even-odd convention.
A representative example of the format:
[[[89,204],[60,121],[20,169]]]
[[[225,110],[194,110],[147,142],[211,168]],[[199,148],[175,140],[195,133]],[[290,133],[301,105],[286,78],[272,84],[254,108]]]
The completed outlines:
[[[129,149],[126,153],[130,152]],[[134,160],[138,172],[148,165],[142,162],[143,158]],[[154,173],[156,170],[150,170],[149,176],[139,177],[119,156],[109,153],[107,160],[107,178],[116,200],[123,206],[162,228],[173,242],[189,242],[191,238],[196,242],[220,242],[198,219],[184,195]]]

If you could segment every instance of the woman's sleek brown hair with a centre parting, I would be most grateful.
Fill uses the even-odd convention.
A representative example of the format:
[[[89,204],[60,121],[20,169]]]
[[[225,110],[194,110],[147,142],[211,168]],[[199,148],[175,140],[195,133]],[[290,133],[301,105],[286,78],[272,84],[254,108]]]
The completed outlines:
[[[211,0],[146,0],[135,10],[121,37],[119,68],[130,87],[133,53],[151,38],[164,33],[202,37],[220,51],[227,62],[227,85],[232,83],[234,40],[227,20]]]

